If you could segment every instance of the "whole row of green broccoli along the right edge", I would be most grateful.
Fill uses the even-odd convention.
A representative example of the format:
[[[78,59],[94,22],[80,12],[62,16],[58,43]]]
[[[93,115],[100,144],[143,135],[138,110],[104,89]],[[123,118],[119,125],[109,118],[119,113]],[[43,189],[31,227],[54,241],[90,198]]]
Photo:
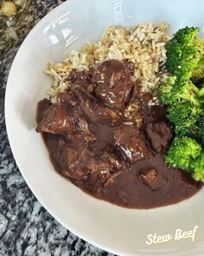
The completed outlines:
[[[186,27],[166,43],[166,68],[171,74],[158,91],[175,128],[166,162],[204,181],[204,39],[198,32]]]

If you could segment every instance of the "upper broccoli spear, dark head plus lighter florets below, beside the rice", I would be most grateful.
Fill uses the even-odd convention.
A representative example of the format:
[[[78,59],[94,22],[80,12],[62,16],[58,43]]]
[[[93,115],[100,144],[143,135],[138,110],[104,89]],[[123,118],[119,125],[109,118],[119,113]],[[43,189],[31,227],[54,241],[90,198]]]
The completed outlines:
[[[204,39],[197,36],[198,32],[198,28],[186,27],[166,43],[166,67],[172,75],[158,87],[164,104],[199,105],[204,96]]]

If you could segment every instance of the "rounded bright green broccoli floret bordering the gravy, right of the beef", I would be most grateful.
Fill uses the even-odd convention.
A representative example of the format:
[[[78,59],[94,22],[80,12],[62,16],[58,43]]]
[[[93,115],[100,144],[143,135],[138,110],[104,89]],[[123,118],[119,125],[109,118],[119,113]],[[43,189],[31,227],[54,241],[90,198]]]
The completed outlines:
[[[187,136],[175,137],[166,154],[166,162],[171,167],[190,171],[191,162],[201,154],[201,145]]]

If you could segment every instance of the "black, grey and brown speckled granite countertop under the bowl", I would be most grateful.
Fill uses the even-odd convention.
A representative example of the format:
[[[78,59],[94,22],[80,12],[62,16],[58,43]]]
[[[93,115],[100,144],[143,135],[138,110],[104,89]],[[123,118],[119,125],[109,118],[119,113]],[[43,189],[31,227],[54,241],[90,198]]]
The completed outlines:
[[[0,0],[0,5],[1,5]],[[0,255],[112,255],[81,240],[41,206],[22,178],[6,134],[4,95],[10,66],[25,36],[61,0],[16,0],[0,13]]]

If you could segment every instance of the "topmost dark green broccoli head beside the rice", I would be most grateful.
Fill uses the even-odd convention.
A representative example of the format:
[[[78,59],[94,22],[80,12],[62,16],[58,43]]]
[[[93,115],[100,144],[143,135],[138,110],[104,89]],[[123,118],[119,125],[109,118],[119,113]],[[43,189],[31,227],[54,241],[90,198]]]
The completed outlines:
[[[197,39],[198,32],[199,28],[183,28],[166,43],[166,67],[173,75],[185,74],[190,77],[198,65],[203,52],[201,42]]]

